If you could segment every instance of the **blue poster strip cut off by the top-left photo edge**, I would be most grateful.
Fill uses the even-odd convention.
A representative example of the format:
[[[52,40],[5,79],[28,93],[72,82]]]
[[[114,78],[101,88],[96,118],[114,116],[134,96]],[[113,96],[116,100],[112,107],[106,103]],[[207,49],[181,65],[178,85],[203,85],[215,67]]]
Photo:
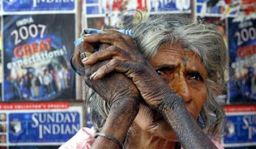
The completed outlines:
[[[68,11],[75,10],[74,0],[65,1],[42,1],[42,0],[3,0],[3,11],[15,12],[15,11]]]

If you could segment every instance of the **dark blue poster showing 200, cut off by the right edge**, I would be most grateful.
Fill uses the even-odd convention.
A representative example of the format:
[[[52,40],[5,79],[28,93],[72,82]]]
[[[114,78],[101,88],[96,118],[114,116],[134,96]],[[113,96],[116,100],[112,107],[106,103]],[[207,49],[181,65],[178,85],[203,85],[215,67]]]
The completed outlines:
[[[256,101],[256,19],[228,19],[228,103]]]

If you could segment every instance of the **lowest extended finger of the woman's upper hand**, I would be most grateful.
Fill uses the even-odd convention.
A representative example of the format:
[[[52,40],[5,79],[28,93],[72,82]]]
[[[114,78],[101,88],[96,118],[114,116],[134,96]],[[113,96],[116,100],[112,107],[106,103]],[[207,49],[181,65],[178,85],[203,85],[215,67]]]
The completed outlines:
[[[90,79],[97,80],[104,78],[107,74],[112,73],[113,71],[118,71],[119,73],[127,73],[132,71],[133,64],[120,61],[118,59],[112,59],[106,65],[101,66],[96,72],[94,72]]]

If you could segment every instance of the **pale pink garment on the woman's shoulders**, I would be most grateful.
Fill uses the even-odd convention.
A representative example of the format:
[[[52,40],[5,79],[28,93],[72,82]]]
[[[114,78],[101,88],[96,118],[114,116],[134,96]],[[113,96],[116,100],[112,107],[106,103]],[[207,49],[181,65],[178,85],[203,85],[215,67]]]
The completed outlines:
[[[71,139],[69,139],[68,142],[60,146],[59,149],[89,149],[95,141],[93,138],[93,132],[93,129],[83,127]],[[212,137],[211,140],[217,148],[224,149],[224,147],[222,147],[216,140],[212,139]]]

